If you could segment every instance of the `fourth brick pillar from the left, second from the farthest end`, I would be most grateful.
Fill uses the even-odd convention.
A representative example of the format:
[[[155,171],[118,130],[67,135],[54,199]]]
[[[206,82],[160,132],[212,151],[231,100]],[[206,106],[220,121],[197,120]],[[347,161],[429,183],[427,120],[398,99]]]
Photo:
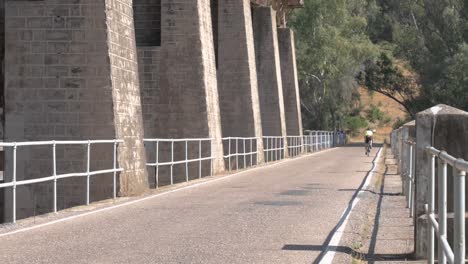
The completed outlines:
[[[264,136],[286,137],[275,11],[271,7],[255,7],[252,14],[262,132]]]

